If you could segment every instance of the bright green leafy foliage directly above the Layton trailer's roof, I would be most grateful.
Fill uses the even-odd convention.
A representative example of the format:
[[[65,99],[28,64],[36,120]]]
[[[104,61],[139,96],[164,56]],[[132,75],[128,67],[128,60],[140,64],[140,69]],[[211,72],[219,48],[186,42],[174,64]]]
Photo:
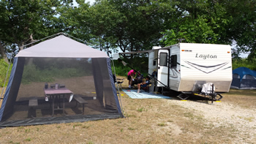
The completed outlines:
[[[165,45],[174,45],[177,39],[191,43],[230,43],[222,38],[229,19],[219,3],[197,0],[197,4],[189,4],[181,1],[177,8],[182,14],[171,23],[172,29],[162,33]]]

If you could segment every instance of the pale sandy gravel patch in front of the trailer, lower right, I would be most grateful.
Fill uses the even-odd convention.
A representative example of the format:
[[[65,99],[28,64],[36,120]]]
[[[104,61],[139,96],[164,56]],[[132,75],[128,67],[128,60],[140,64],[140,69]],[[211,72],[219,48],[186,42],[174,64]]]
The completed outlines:
[[[206,124],[211,125],[211,129],[232,127],[236,131],[234,143],[256,142],[255,107],[244,108],[228,102],[214,102],[214,105],[209,105],[203,102],[173,100],[167,103],[193,110],[194,115],[201,115]]]

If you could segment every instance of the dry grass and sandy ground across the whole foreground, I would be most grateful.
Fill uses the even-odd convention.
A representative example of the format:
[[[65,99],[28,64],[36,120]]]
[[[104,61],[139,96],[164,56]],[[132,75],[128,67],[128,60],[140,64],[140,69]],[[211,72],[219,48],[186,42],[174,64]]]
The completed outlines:
[[[124,94],[127,118],[9,127],[0,129],[0,143],[255,143],[256,91],[231,89],[223,96],[208,105]]]

